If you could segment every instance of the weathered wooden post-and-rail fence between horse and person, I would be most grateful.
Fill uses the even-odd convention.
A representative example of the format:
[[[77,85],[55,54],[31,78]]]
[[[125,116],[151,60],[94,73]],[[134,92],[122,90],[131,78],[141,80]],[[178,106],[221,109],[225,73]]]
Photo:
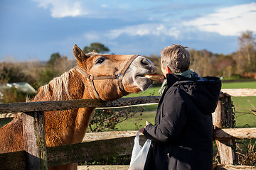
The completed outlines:
[[[231,167],[230,164],[235,162],[235,139],[256,139],[256,128],[233,127],[231,96],[256,96],[256,89],[222,89],[218,107],[213,113],[213,137],[220,154],[220,162],[226,166],[219,165],[216,169],[226,169],[225,167]],[[0,104],[0,114],[25,113],[23,114],[25,150],[0,154],[0,169],[47,169],[48,166],[132,154],[136,131],[88,133],[81,143],[46,147],[43,111],[136,106],[158,103],[159,98],[160,96],[147,96],[120,98],[112,102],[82,99]],[[142,143],[146,140],[143,135],[141,139]],[[228,169],[234,167],[255,169],[254,166],[232,166]]]

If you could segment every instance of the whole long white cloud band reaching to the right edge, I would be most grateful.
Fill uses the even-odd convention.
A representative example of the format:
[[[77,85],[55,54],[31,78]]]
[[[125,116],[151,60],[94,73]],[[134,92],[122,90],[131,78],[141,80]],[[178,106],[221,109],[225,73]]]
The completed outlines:
[[[174,37],[176,40],[185,38],[183,34],[199,31],[219,33],[220,35],[240,35],[246,30],[256,32],[256,3],[242,4],[220,8],[207,16],[196,18],[192,21],[183,21],[178,26],[174,26],[170,21],[161,23],[145,23],[137,26],[127,26],[120,29],[110,30],[107,37],[117,38],[119,35],[127,34],[131,36],[156,35],[161,38]],[[186,37],[188,39],[188,37]]]

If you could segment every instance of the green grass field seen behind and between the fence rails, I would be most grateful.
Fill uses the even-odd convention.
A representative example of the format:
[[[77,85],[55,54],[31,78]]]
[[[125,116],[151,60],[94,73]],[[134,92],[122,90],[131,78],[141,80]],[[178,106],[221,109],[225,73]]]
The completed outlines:
[[[239,82],[223,82],[222,89],[256,89],[256,81],[239,81]],[[159,86],[153,85],[146,91],[139,94],[129,94],[127,97],[135,96],[159,96]],[[256,116],[250,113],[249,109],[252,106],[247,101],[256,107],[256,96],[254,97],[232,97],[233,105],[235,106],[236,113],[236,127],[242,128],[244,126],[256,127]],[[145,110],[141,114],[137,113],[133,118],[126,120],[117,125],[118,130],[139,130],[145,125],[146,120],[154,123],[157,105],[144,106]]]

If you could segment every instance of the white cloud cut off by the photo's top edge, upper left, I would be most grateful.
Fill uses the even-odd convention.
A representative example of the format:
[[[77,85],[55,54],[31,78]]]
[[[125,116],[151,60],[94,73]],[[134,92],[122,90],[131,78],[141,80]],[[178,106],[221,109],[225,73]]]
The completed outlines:
[[[131,17],[127,11],[131,6],[123,1],[91,1],[91,0],[31,0],[41,8],[49,9],[53,18],[68,16],[86,16],[90,18]],[[136,14],[135,14],[136,15]]]

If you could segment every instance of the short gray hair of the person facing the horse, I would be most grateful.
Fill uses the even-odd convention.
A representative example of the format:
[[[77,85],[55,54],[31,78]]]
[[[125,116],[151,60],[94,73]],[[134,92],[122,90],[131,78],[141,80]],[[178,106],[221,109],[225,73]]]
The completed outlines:
[[[187,47],[174,44],[161,50],[162,67],[169,67],[173,74],[188,70],[190,54],[186,48]]]

